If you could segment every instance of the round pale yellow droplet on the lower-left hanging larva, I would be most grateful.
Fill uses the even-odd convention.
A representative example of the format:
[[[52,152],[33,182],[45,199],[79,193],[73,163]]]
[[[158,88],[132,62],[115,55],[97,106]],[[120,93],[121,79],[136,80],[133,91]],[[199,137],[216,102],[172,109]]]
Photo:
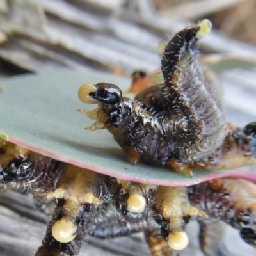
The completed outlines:
[[[69,243],[75,239],[77,223],[70,216],[64,216],[52,226],[52,236],[60,243]]]

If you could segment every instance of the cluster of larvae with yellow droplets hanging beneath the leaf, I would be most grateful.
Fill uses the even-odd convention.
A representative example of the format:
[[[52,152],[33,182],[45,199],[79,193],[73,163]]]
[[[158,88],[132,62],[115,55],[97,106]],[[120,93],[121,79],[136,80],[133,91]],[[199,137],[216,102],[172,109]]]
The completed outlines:
[[[186,226],[193,218],[200,224],[205,255],[225,252],[221,221],[256,246],[256,189],[250,182],[156,186],[62,163],[3,139],[0,151],[0,182],[22,186],[41,204],[51,205],[52,220],[36,256],[78,255],[86,235],[106,239],[141,231],[152,255],[175,255],[188,245]]]

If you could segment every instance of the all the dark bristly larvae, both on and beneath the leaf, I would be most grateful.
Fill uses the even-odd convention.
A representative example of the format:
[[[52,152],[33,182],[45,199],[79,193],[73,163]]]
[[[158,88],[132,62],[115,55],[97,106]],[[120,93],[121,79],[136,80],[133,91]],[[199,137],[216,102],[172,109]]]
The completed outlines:
[[[225,122],[220,92],[198,62],[197,42],[210,30],[211,22],[202,20],[179,31],[163,52],[163,83],[141,90],[135,100],[123,97],[114,84],[81,86],[79,99],[98,104],[93,111],[79,110],[96,120],[88,129],[108,129],[132,164],[141,159],[189,177],[194,168],[255,163],[256,123],[241,129]],[[105,239],[135,232],[144,232],[153,256],[175,255],[188,245],[186,226],[192,219],[200,225],[205,255],[229,255],[222,244],[223,222],[256,246],[255,185],[240,179],[189,187],[140,184],[0,138],[0,183],[28,189],[52,209],[36,256],[78,255],[85,236]]]

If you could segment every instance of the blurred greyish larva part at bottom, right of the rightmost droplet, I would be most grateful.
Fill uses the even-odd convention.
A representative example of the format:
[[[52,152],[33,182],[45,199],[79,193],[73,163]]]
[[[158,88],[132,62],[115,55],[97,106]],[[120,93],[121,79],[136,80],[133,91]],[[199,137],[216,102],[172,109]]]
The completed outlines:
[[[221,221],[198,221],[200,224],[199,241],[205,256],[232,256],[223,244],[225,224]]]

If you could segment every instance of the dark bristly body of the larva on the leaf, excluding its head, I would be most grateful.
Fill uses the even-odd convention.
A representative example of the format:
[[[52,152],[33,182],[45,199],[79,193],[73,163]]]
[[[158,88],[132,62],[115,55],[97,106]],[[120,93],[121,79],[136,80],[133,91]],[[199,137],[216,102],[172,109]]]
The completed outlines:
[[[109,119],[107,129],[128,154],[132,147],[147,163],[165,165],[172,159],[198,161],[220,147],[225,117],[216,88],[205,81],[197,61],[199,30],[186,28],[170,40],[162,60],[164,83],[136,96],[141,106],[130,103],[131,111],[116,124],[118,132]],[[112,108],[125,109],[127,101]]]

